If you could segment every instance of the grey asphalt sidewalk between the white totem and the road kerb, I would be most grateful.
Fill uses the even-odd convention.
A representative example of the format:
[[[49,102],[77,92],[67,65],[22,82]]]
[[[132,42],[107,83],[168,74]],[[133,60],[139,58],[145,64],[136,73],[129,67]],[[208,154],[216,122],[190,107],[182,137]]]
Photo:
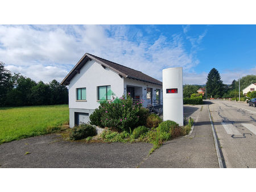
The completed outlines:
[[[185,106],[195,121],[191,135],[167,141],[139,168],[219,168],[207,105]]]

